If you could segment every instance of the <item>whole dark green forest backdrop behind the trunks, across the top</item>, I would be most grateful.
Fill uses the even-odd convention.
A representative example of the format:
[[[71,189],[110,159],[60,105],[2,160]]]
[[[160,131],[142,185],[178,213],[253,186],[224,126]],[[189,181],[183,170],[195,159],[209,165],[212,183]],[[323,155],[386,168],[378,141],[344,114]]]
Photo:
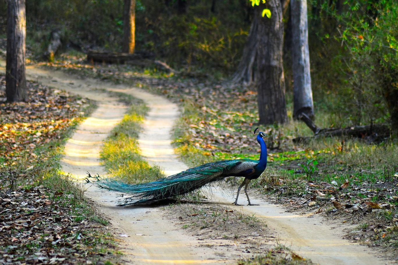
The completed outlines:
[[[315,114],[328,113],[324,122],[334,127],[388,122],[396,128],[398,25],[394,23],[394,1],[307,1]],[[64,51],[121,51],[126,24],[124,2],[28,1],[29,51],[33,56],[41,56],[55,29],[59,29]],[[297,77],[291,69],[293,29],[288,25],[289,14],[293,13],[289,12],[287,1],[283,6],[287,8],[283,12],[287,116],[293,118],[291,102]],[[258,21],[248,0],[231,0],[228,4],[136,0],[135,19],[137,51],[149,51],[176,69],[206,73],[207,78],[227,78],[236,69],[240,71],[234,80],[246,85],[258,78],[254,51],[259,35],[252,33],[258,31]],[[0,37],[5,40],[5,35],[6,2],[0,1]],[[247,49],[245,43],[249,45]],[[243,54],[247,56],[242,57]],[[256,91],[256,87],[248,89]]]

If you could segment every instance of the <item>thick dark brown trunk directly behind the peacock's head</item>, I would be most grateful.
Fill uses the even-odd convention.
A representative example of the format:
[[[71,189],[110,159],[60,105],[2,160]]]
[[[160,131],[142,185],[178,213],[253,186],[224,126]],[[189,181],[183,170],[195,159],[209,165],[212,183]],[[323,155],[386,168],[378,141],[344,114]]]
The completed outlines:
[[[264,8],[271,18],[261,17]],[[283,75],[283,22],[279,0],[268,0],[256,8],[258,19],[257,69],[258,113],[260,124],[285,123],[285,77]]]

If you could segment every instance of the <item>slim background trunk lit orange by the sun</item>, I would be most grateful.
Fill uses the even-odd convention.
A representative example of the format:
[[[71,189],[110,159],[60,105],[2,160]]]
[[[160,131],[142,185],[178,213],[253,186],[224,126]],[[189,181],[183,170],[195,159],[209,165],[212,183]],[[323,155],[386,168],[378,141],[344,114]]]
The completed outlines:
[[[133,53],[135,47],[135,0],[125,0],[123,25],[123,52]]]

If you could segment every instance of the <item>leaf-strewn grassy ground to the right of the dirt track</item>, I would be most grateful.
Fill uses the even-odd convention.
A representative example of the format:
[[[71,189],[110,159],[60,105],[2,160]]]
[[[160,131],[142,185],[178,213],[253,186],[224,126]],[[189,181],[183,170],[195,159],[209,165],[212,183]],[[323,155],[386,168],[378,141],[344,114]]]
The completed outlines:
[[[213,160],[258,159],[251,137],[257,120],[256,91],[231,87],[222,79],[174,76],[156,67],[92,64],[84,55],[62,55],[43,63],[82,77],[96,77],[140,87],[176,103],[182,116],[174,128],[176,151],[188,166]],[[289,99],[291,95],[287,93]],[[287,100],[291,117],[292,100]],[[316,123],[321,128],[351,126],[331,113],[329,98],[318,99]],[[366,139],[324,138],[293,144],[312,136],[302,122],[262,129],[267,138],[267,177],[252,181],[258,196],[290,212],[322,215],[350,224],[345,237],[396,257],[398,246],[398,145],[393,140],[369,144]],[[238,180],[239,181],[239,180]],[[237,182],[232,181],[234,185]]]

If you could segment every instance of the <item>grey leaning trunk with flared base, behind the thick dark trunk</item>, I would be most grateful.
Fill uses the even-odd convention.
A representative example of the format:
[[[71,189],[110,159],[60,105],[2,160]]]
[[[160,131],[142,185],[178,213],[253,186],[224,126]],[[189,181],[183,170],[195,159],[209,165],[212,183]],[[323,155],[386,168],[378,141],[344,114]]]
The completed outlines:
[[[233,85],[251,86],[256,82],[256,54],[258,44],[258,16],[254,16],[249,36],[243,49],[242,59],[232,77]]]

